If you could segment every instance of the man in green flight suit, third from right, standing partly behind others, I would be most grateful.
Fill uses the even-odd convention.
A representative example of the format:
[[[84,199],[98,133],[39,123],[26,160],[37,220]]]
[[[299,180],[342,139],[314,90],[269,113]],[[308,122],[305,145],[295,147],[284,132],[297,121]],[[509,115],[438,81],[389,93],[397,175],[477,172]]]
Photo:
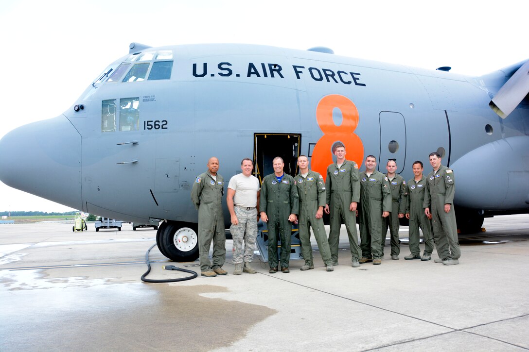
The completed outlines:
[[[388,178],[389,190],[391,192],[391,212],[384,221],[384,230],[382,231],[381,239],[382,257],[384,257],[384,244],[386,243],[389,227],[391,259],[398,261],[398,255],[400,254],[400,239],[398,238],[398,230],[400,227],[399,219],[404,218],[404,213],[406,212],[408,191],[406,188],[406,181],[400,175],[395,173],[397,170],[397,163],[395,160],[388,160],[386,163],[386,170],[388,170],[386,177]]]

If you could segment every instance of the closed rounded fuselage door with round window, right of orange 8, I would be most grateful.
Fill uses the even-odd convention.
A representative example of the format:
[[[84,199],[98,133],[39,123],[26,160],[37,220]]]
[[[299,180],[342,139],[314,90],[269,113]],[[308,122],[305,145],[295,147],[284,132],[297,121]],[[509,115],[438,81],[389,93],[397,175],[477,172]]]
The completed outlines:
[[[406,123],[400,113],[383,111],[380,119],[380,157],[377,162],[378,171],[386,173],[389,159],[397,162],[396,173],[404,170],[406,161]]]

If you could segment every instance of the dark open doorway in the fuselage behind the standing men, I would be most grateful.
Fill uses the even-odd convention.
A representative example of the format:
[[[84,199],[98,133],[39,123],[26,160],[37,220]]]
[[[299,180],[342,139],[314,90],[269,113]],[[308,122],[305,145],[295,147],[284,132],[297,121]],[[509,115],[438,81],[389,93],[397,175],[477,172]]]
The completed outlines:
[[[273,173],[272,161],[276,156],[283,158],[283,171],[294,177],[298,172],[300,134],[256,133],[253,142],[253,175],[262,182],[263,178]]]

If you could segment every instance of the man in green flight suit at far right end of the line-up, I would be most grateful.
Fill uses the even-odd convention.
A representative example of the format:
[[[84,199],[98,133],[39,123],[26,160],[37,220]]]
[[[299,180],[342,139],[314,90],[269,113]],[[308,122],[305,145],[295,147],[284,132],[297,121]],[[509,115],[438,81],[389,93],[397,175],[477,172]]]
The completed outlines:
[[[454,172],[441,164],[441,155],[437,152],[430,153],[430,165],[433,171],[426,177],[423,207],[424,214],[432,216],[433,238],[439,255],[435,263],[459,264],[461,249],[453,207]]]

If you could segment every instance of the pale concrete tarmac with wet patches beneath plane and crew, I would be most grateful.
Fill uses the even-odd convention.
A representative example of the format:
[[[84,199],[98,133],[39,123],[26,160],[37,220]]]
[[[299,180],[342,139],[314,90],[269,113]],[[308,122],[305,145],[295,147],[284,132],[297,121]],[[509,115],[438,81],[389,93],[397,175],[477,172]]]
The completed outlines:
[[[73,233],[71,224],[0,225],[0,351],[424,351],[529,349],[529,216],[485,219],[461,236],[459,265],[400,260],[351,267],[342,226],[339,264],[314,270],[144,283],[156,231]],[[328,227],[327,227],[328,230]],[[389,235],[386,242],[389,245]],[[424,245],[421,244],[421,251]],[[432,258],[437,258],[436,252]],[[149,279],[199,273],[154,246]]]

